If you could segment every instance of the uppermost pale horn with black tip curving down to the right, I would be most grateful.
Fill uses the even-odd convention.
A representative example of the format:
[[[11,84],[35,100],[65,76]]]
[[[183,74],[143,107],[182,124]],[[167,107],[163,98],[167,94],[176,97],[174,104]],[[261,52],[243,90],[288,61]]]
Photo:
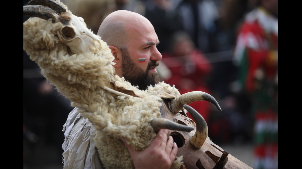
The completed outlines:
[[[221,108],[215,98],[202,91],[188,92],[173,99],[170,103],[170,109],[173,113],[178,113],[183,108],[183,105],[202,100],[212,103],[219,111],[221,111]]]

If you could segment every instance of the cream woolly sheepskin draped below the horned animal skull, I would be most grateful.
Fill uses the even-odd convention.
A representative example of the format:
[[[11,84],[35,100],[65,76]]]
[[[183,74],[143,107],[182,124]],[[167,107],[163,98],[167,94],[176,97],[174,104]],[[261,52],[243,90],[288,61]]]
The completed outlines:
[[[70,11],[66,13],[71,19],[81,21]],[[84,21],[82,25],[86,28]],[[114,57],[99,36],[95,35],[93,41],[89,37],[66,41],[61,33],[62,27],[59,21],[28,19],[23,23],[23,49],[31,60],[38,63],[44,77],[96,128],[94,140],[105,167],[134,168],[120,138],[124,137],[136,150],[148,147],[156,136],[150,122],[161,115],[159,101],[176,98],[180,93],[165,83],[150,86],[146,91],[139,90],[115,75]],[[81,32],[77,36],[86,35]],[[79,43],[87,50],[73,47]],[[176,157],[171,168],[180,168],[181,165],[182,156]]]

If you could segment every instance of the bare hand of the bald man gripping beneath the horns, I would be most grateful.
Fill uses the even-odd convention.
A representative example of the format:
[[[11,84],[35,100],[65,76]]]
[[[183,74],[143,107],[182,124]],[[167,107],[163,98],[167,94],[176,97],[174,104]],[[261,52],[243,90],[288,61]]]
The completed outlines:
[[[172,136],[169,136],[167,141],[167,134],[167,129],[159,130],[149,147],[143,151],[133,149],[124,139],[122,139],[130,152],[136,169],[169,169],[171,167],[178,147],[176,143],[173,143]]]

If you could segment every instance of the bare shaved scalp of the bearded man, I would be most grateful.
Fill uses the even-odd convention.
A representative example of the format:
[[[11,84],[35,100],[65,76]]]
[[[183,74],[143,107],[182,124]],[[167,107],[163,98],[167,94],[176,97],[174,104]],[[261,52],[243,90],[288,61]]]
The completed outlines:
[[[109,46],[126,47],[131,34],[146,26],[150,27],[152,24],[144,16],[127,10],[117,10],[104,19],[97,35]]]

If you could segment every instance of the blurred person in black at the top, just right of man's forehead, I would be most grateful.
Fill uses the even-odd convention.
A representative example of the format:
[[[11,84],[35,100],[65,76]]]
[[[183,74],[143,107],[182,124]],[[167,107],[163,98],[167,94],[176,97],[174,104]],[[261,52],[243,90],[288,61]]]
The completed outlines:
[[[174,32],[183,30],[181,18],[176,7],[179,0],[146,0],[145,17],[154,26],[160,44],[159,52],[168,51],[170,39]]]

